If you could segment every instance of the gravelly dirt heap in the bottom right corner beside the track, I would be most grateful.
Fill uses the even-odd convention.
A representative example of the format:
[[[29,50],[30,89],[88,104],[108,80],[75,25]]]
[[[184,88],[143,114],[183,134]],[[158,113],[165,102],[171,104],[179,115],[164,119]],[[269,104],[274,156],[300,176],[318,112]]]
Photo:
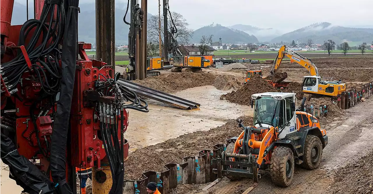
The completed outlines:
[[[373,192],[373,151],[335,172],[332,193],[372,194]]]

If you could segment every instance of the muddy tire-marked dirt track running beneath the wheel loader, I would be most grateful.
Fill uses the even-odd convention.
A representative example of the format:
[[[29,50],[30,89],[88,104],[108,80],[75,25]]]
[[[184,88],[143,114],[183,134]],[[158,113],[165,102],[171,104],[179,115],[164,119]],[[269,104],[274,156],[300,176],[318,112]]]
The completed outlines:
[[[329,144],[324,149],[322,164],[319,169],[305,170],[296,166],[294,181],[287,188],[275,186],[270,180],[268,171],[261,171],[259,185],[254,188],[250,194],[325,194],[338,192],[338,188],[335,187],[341,187],[341,185],[344,187],[342,193],[356,193],[355,189],[349,189],[350,182],[355,181],[357,182],[356,184],[358,184],[359,180],[352,179],[345,184],[336,184],[334,183],[336,177],[341,177],[343,180],[344,177],[341,172],[344,171],[339,170],[337,173],[334,173],[334,171],[343,168],[348,163],[354,164],[356,159],[369,153],[369,150],[372,150],[372,107],[373,100],[370,99],[366,103],[361,103],[354,108],[348,109],[347,115],[343,117],[345,119],[344,121],[335,121],[327,126],[323,126],[327,129]],[[372,169],[366,169],[365,174],[371,172],[371,170]],[[364,172],[362,173],[364,174]],[[369,177],[365,178],[365,180],[369,180]],[[228,194],[229,192],[235,193],[236,191],[242,193],[242,190],[246,190],[252,184],[253,182],[251,180],[233,182],[228,179],[223,179],[223,181],[205,192],[202,192],[201,188],[205,187],[206,184],[195,185],[193,188],[189,186],[179,186],[177,191],[178,193],[190,194]],[[370,188],[362,188],[358,193],[365,194],[369,189]],[[371,192],[372,191],[370,191],[370,193]]]

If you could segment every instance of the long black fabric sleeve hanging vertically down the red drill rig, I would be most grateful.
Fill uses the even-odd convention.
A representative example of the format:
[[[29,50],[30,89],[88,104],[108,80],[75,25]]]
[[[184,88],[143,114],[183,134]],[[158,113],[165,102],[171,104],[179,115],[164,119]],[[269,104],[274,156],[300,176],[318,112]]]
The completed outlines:
[[[75,79],[75,64],[78,43],[78,6],[79,0],[66,0],[66,26],[62,48],[62,82],[60,99],[53,123],[51,141],[50,169],[53,182],[58,183],[57,192],[71,194],[66,183],[66,143]]]

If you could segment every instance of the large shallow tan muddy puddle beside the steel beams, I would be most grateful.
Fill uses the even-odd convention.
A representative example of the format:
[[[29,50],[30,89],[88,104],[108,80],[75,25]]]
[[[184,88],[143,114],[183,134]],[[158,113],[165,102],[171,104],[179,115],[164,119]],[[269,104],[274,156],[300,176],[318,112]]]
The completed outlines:
[[[129,110],[129,126],[125,135],[130,143],[130,151],[186,133],[206,131],[225,124],[228,119],[253,114],[253,109],[249,106],[219,100],[222,94],[228,92],[231,91],[203,86],[174,94],[200,103],[200,108],[194,110],[181,110],[153,100],[148,100],[150,103],[148,113]]]

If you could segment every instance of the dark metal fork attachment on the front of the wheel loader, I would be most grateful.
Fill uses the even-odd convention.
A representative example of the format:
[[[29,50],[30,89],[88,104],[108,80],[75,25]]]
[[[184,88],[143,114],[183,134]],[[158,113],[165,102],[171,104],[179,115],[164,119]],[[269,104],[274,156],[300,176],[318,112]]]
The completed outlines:
[[[221,157],[213,159],[213,163],[216,165],[213,172],[217,173],[218,178],[222,176],[252,178],[255,183],[258,183],[260,174],[253,154],[232,154],[223,151]]]

